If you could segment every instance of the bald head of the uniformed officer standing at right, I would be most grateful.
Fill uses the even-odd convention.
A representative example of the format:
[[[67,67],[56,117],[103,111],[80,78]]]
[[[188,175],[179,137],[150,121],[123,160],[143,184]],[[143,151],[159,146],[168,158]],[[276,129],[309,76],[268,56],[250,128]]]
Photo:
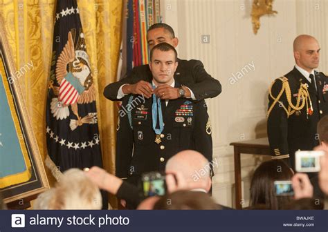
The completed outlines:
[[[319,66],[320,47],[311,35],[299,35],[293,43],[294,58],[298,66],[311,72]]]

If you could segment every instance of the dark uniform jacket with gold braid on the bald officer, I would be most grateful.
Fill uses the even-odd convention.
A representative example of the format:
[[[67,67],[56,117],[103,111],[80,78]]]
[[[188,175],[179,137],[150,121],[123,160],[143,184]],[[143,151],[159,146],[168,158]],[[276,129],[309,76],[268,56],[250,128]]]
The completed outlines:
[[[284,77],[275,79],[269,89],[267,126],[271,155],[273,159],[290,158],[289,162],[293,168],[295,151],[309,151],[319,144],[316,127],[320,118],[328,113],[328,77],[322,72],[315,72],[315,76],[318,91],[296,68]],[[290,94],[285,89],[274,104],[273,97],[277,98],[287,84]],[[304,95],[299,93],[301,87]],[[304,87],[307,87],[307,90]],[[297,106],[300,98],[300,106],[304,101],[304,107],[293,110],[287,96],[290,96],[293,106]]]

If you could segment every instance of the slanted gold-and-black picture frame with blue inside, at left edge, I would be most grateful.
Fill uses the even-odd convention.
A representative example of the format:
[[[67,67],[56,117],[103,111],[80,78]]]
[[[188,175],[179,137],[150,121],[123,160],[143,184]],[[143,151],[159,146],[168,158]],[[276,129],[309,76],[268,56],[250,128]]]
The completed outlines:
[[[5,203],[33,199],[49,188],[15,73],[6,30],[0,18],[0,194]]]

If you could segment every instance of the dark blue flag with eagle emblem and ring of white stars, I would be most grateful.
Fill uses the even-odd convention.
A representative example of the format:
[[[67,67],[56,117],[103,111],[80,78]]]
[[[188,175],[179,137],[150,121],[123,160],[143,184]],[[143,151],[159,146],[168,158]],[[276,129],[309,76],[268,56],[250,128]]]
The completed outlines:
[[[46,105],[46,166],[58,180],[69,168],[102,167],[95,84],[78,4],[57,0]]]

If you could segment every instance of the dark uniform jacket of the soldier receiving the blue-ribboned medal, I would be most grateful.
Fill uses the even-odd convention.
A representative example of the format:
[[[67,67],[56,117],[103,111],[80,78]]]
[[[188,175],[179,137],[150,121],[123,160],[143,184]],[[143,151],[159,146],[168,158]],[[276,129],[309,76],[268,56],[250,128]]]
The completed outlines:
[[[175,86],[179,86],[176,82]],[[205,101],[186,98],[162,100],[164,129],[161,143],[155,142],[152,125],[153,98],[127,95],[119,110],[116,144],[116,175],[139,176],[148,171],[164,171],[167,160],[179,151],[199,151],[212,161],[210,119]],[[129,104],[130,102],[130,104]],[[128,106],[129,105],[129,106]],[[126,113],[131,110],[131,114]]]

